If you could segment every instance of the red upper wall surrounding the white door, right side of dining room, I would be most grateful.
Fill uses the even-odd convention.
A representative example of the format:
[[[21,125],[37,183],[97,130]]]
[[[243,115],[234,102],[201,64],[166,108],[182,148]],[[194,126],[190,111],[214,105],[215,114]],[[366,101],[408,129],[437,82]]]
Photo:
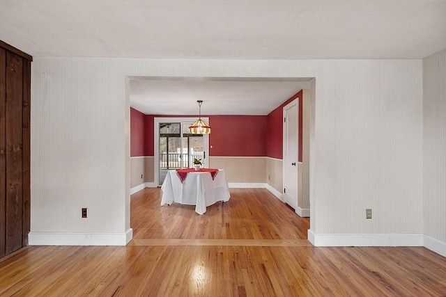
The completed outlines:
[[[295,98],[299,98],[299,154],[298,161],[302,162],[302,90],[295,94],[286,102],[282,103],[274,111],[271,111],[267,116],[267,133],[266,133],[266,156],[271,158],[283,159],[283,108],[286,104],[292,102]]]

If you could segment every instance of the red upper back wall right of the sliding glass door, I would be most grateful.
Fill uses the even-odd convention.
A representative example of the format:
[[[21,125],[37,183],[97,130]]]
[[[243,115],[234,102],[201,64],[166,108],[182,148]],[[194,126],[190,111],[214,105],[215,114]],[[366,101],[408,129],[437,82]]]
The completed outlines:
[[[266,115],[210,115],[210,156],[266,156]]]

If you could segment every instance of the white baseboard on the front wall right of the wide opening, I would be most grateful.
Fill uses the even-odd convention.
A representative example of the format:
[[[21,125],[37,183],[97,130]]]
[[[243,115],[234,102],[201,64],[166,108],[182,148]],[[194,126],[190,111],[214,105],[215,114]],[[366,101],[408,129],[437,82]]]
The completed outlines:
[[[314,246],[423,246],[423,234],[314,234]]]

